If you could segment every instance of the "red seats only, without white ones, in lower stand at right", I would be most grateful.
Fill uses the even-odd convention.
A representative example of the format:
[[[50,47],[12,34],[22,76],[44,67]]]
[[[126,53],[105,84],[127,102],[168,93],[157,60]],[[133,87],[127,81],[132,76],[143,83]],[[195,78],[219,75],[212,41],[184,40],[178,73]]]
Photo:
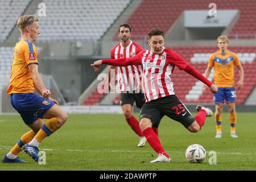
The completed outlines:
[[[195,53],[198,53],[197,51],[200,51],[201,53],[211,53],[217,50],[217,47],[214,46],[177,46],[177,47],[168,47],[170,49],[175,50],[175,52],[182,52],[183,54],[187,54],[188,59],[190,60],[193,54],[189,55],[187,52],[191,52],[192,50],[195,50]],[[254,46],[230,46],[230,49],[234,52],[256,52],[256,48]],[[183,57],[183,54],[180,53],[180,55]],[[207,68],[207,63],[199,64],[199,63],[192,63],[193,67],[195,67],[200,72],[204,72],[204,70]],[[253,63],[245,63],[243,64],[243,68],[245,70],[245,77],[244,85],[242,90],[237,90],[237,104],[243,104],[245,102],[246,98],[249,97],[251,91],[256,86],[256,77],[255,77],[255,70],[256,70],[256,59],[254,59]],[[235,71],[235,80],[238,81],[238,71],[236,68],[234,68]],[[191,75],[184,73],[183,71],[180,71],[179,69],[175,69],[174,76],[172,78],[172,81],[174,82],[174,90],[175,94],[181,101],[184,103],[213,103],[213,94],[210,93],[209,89],[207,88],[206,92],[204,92],[199,100],[196,101],[188,101],[185,100],[185,95],[189,93],[189,90],[192,89],[192,86],[195,85],[195,82],[197,81],[195,78],[191,77]],[[184,84],[184,82],[186,84]]]

